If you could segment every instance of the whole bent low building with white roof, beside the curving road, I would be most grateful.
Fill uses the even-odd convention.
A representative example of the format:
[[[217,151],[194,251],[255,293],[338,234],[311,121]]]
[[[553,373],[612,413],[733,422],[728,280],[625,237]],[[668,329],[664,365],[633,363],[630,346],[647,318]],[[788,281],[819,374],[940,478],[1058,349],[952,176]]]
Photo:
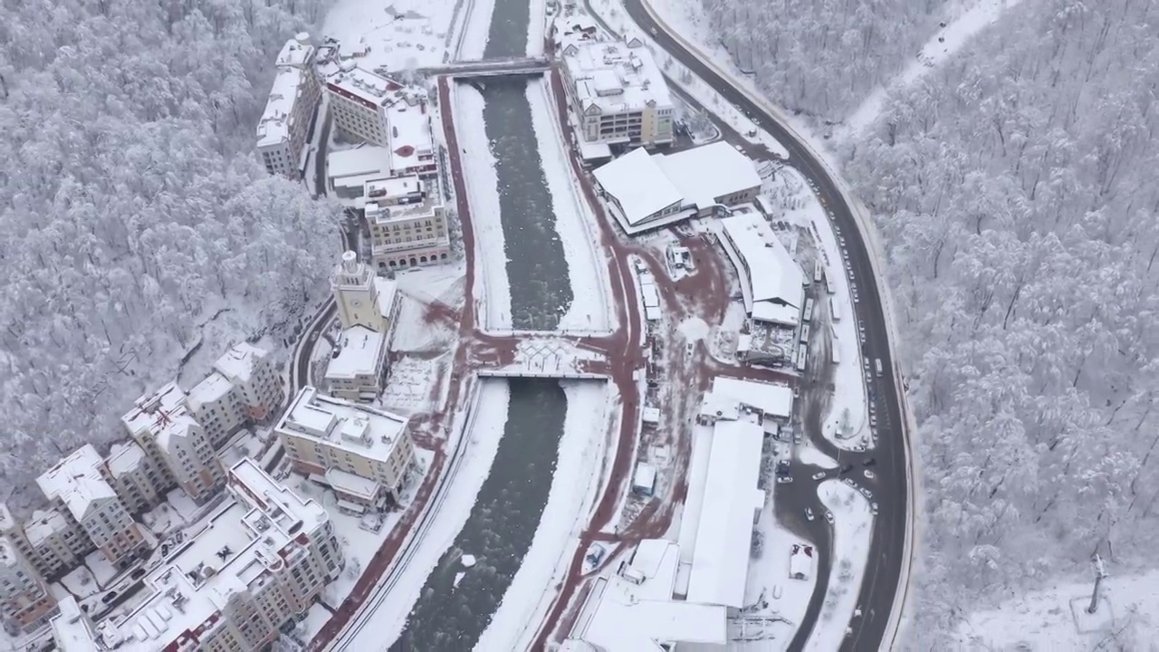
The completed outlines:
[[[741,277],[745,312],[758,321],[796,326],[804,307],[804,273],[764,216],[735,213],[721,219],[716,229]]]

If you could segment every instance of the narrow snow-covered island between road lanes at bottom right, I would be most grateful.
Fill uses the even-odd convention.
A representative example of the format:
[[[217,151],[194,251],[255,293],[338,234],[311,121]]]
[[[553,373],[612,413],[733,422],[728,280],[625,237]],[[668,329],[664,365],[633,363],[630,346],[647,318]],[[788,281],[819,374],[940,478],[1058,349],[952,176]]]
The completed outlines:
[[[857,617],[858,593],[869,559],[873,514],[869,501],[844,481],[821,483],[817,495],[821,504],[833,513],[833,568],[825,603],[806,650],[829,652],[841,646],[850,621]]]

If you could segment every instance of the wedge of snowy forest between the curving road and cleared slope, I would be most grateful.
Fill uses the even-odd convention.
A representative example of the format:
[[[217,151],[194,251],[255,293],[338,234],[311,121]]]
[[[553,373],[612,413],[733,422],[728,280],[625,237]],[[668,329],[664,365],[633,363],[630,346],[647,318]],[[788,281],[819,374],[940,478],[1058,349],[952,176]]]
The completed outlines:
[[[701,0],[774,102],[840,121],[936,30],[947,0]]]

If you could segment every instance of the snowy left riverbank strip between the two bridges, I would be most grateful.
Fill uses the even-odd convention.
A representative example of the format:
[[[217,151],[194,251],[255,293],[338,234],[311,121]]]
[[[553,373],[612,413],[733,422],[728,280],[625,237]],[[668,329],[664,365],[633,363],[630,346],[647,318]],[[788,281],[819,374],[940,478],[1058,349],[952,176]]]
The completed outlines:
[[[484,100],[471,86],[451,88],[454,129],[462,152],[462,174],[475,233],[475,312],[484,329],[511,328],[511,288],[508,284],[508,253],[500,213],[498,174],[495,154],[483,125]],[[503,252],[503,255],[500,255]],[[481,305],[479,305],[481,304]]]

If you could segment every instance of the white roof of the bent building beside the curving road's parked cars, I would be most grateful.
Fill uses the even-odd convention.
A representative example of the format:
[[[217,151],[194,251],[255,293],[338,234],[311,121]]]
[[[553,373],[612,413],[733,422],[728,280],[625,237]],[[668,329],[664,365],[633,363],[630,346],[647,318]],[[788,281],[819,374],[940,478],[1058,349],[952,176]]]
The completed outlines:
[[[804,304],[804,273],[758,212],[744,212],[720,220],[724,239],[748,269],[738,271],[748,285],[749,312],[756,302],[771,300],[800,309]]]

